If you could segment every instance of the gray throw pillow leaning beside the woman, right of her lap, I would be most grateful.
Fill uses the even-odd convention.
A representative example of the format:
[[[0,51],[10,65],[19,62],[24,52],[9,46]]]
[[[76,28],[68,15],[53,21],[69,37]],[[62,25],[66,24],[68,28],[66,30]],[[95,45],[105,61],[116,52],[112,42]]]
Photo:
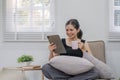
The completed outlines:
[[[115,73],[112,71],[112,69],[102,61],[98,60],[94,56],[90,55],[87,52],[83,53],[83,58],[89,60],[91,63],[95,65],[95,69],[98,70],[98,73],[100,75],[100,78],[103,79],[113,79],[115,78]]]

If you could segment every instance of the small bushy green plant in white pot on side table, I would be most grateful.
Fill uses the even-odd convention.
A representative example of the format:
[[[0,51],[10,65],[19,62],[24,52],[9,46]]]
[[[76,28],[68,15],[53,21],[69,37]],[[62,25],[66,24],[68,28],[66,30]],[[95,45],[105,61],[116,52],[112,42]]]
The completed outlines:
[[[30,65],[32,61],[33,61],[33,57],[31,55],[22,55],[17,59],[18,63],[25,62],[27,66]]]

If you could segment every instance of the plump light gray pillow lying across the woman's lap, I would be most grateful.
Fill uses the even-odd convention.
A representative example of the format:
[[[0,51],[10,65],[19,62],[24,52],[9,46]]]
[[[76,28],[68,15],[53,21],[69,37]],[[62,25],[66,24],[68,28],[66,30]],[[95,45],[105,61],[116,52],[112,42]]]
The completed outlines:
[[[54,68],[69,75],[87,72],[94,67],[87,59],[73,56],[56,56],[49,63]]]

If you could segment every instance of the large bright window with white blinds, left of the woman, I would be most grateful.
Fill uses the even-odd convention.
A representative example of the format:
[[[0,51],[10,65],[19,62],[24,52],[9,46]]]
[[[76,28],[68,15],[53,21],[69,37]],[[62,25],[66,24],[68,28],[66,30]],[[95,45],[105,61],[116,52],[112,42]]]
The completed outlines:
[[[45,41],[55,28],[54,0],[3,0],[4,41]]]

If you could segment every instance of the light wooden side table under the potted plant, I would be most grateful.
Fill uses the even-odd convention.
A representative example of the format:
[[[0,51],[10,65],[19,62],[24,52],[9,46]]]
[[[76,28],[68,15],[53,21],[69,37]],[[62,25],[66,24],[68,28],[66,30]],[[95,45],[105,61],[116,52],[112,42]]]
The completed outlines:
[[[30,65],[30,66],[22,66],[22,67],[4,67],[3,69],[9,69],[9,70],[20,70],[25,75],[25,71],[34,71],[34,70],[41,70],[41,66],[39,65]],[[44,75],[42,74],[42,80],[44,80]]]

